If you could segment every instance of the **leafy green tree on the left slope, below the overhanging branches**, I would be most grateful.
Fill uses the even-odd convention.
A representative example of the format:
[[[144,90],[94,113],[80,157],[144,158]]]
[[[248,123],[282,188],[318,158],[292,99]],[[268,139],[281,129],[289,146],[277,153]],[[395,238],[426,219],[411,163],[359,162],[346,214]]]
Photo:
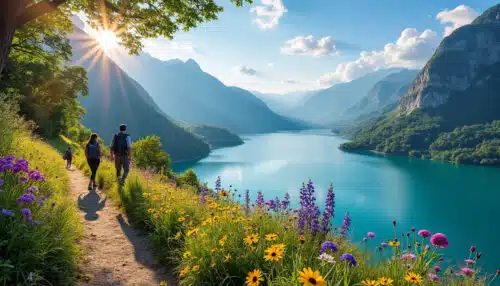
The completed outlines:
[[[78,95],[87,95],[87,72],[66,66],[73,31],[67,11],[47,14],[18,29],[0,82],[3,91],[18,99],[20,114],[36,123],[44,137],[77,126],[85,110]]]

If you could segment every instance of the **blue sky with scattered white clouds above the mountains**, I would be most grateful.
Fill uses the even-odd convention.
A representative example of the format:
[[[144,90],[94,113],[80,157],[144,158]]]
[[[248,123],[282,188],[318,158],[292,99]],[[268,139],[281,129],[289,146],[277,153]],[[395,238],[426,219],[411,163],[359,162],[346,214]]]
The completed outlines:
[[[218,3],[225,7],[218,21],[179,32],[172,41],[148,40],[145,51],[162,60],[193,58],[227,85],[286,93],[380,68],[419,68],[446,33],[496,1],[255,0],[242,8],[229,0]]]

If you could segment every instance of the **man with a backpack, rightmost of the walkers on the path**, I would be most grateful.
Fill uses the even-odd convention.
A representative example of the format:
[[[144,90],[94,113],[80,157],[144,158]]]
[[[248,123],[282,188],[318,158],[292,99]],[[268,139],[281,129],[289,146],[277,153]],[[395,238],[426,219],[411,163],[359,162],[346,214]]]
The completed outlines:
[[[111,141],[111,153],[115,160],[116,178],[120,185],[123,185],[125,179],[127,179],[130,169],[130,159],[132,158],[132,139],[126,131],[127,125],[121,124],[120,132],[116,133]],[[122,168],[123,176],[120,178]]]

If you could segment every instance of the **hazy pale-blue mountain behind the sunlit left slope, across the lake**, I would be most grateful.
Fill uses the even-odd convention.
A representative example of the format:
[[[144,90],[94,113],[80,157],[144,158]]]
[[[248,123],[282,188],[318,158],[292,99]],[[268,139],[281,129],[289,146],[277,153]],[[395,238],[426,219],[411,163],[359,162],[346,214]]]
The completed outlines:
[[[122,68],[163,112],[183,123],[223,127],[237,134],[304,128],[273,112],[251,92],[224,85],[192,59],[161,61],[144,53],[127,61]]]

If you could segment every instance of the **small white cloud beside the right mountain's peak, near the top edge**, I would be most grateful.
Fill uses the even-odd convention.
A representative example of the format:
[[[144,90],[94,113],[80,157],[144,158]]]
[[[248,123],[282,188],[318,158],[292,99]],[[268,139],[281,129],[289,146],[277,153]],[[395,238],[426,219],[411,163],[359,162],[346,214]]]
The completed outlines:
[[[441,24],[451,24],[451,26],[445,27],[444,36],[446,37],[456,29],[470,24],[477,16],[479,16],[479,13],[476,10],[465,5],[460,5],[453,10],[445,9],[439,12],[436,19]]]

